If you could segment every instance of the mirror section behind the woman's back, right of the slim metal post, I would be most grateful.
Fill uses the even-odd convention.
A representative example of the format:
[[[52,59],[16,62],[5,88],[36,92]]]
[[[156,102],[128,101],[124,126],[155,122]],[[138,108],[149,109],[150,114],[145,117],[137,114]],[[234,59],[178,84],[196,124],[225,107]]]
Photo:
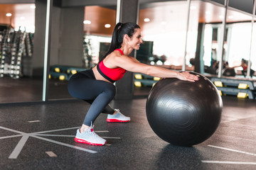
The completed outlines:
[[[72,98],[67,87],[70,77],[94,67],[102,55],[105,55],[115,26],[116,8],[85,6],[82,9],[62,9],[76,17],[70,19],[70,16],[64,15],[66,22],[60,23],[63,26],[61,30],[66,34],[64,38],[60,38],[60,50],[51,52],[49,99]],[[55,31],[57,34],[59,30]],[[52,38],[54,39],[53,36]]]

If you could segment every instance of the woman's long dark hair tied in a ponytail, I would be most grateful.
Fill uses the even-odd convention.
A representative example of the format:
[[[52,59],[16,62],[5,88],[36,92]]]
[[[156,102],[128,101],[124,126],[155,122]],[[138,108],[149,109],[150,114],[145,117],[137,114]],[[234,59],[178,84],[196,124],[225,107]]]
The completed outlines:
[[[107,55],[110,55],[111,52],[121,47],[125,34],[127,34],[129,38],[132,38],[136,28],[140,28],[136,23],[117,23],[114,27],[110,47],[107,53],[100,59],[100,62],[104,60]]]

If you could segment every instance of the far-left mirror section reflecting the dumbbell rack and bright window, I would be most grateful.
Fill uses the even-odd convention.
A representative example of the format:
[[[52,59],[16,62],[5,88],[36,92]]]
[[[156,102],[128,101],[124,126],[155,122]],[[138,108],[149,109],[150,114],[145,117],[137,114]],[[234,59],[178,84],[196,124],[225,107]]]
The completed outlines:
[[[41,101],[42,79],[33,77],[35,4],[0,4],[0,103]]]

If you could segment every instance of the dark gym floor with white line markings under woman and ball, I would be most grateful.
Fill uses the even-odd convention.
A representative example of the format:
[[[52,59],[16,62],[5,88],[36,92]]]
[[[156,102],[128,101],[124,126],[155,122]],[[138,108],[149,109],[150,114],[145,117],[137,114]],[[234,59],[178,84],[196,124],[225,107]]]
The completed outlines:
[[[74,142],[89,105],[83,101],[0,107],[0,169],[256,169],[256,103],[223,97],[218,130],[205,142],[178,147],[161,140],[146,120],[146,98],[112,101],[129,123],[95,121],[107,145]]]

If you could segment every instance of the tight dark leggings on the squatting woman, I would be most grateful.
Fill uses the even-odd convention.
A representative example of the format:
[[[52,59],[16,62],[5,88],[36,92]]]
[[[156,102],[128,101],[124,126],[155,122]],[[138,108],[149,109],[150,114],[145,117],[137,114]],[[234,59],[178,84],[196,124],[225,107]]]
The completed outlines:
[[[100,113],[114,113],[109,103],[114,98],[116,87],[107,81],[95,79],[92,69],[74,74],[68,81],[68,92],[71,96],[91,104],[83,122],[87,126],[90,126]]]

